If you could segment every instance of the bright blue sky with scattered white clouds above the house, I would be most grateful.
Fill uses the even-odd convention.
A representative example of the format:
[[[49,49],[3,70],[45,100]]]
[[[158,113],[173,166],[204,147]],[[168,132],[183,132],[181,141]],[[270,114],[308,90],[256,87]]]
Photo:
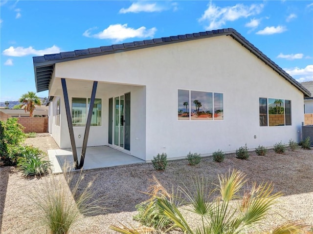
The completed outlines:
[[[296,80],[313,80],[312,0],[0,0],[0,101],[36,92],[33,56],[228,27]]]

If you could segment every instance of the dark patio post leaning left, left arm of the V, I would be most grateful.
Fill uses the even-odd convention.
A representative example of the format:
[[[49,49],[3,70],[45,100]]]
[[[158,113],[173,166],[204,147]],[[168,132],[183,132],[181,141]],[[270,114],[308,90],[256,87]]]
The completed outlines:
[[[67,82],[65,81],[65,78],[61,78],[61,83],[62,83],[62,89],[63,89],[64,102],[65,102],[65,110],[67,113],[67,124],[68,124],[68,130],[69,130],[69,138],[70,138],[70,143],[72,146],[72,153],[73,153],[75,168],[78,169],[77,150],[76,150],[76,144],[75,144],[72,117],[71,117],[69,101],[68,101]]]

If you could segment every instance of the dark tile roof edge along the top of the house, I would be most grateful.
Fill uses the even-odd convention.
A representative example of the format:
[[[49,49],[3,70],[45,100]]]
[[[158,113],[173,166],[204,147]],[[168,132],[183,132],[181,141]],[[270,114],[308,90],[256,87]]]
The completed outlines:
[[[140,40],[134,42],[128,42],[123,44],[115,44],[110,46],[101,46],[96,48],[89,48],[85,50],[75,50],[69,52],[61,52],[59,54],[50,54],[44,56],[33,57],[34,71],[35,71],[35,82],[37,92],[45,91],[49,89],[50,81],[52,78],[54,65],[58,62],[71,61],[76,59],[85,59],[95,56],[108,55],[116,52],[124,52],[136,49],[142,49],[152,46],[159,46],[170,43],[177,43],[181,41],[188,41],[194,39],[210,38],[216,36],[230,36],[241,45],[243,45],[247,50],[253,53],[258,59],[261,59],[266,65],[271,67],[275,72],[277,72],[281,77],[288,80],[297,89],[303,92],[305,97],[311,97],[311,93],[298,83],[294,78],[292,78],[288,73],[286,73],[282,68],[280,68],[276,63],[264,55],[258,48],[251,44],[247,39],[245,39],[240,33],[238,33],[233,28],[224,28],[219,30],[205,31],[199,33],[184,34],[178,36]]]

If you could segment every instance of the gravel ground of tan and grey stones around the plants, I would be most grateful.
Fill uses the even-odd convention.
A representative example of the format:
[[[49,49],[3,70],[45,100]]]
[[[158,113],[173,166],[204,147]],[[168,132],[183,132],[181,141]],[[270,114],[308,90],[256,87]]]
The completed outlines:
[[[26,143],[44,151],[58,148],[50,136],[28,138]],[[107,196],[106,206],[110,210],[107,214],[82,217],[70,234],[114,234],[109,225],[118,225],[118,222],[137,225],[132,219],[136,214],[134,206],[147,199],[141,192],[147,191],[151,185],[149,179],[152,175],[164,187],[172,190],[173,184],[177,186],[184,183],[191,187],[196,175],[217,183],[218,174],[225,174],[233,168],[245,172],[249,181],[273,181],[274,192],[281,191],[284,194],[268,216],[267,228],[259,226],[257,231],[295,220],[313,227],[313,150],[287,151],[284,155],[269,150],[267,156],[250,152],[248,160],[237,159],[234,154],[229,154],[222,163],[213,161],[212,157],[205,157],[196,166],[187,164],[186,160],[170,161],[164,172],[156,172],[150,163],[85,171],[82,186],[93,181],[91,188],[97,191],[98,198]],[[51,176],[25,179],[14,167],[1,167],[0,173],[0,233],[46,233],[45,227],[39,224],[38,211],[31,197],[34,191],[41,191]],[[63,175],[56,177],[64,180]],[[194,220],[192,216],[188,218]],[[179,234],[178,231],[172,233]]]

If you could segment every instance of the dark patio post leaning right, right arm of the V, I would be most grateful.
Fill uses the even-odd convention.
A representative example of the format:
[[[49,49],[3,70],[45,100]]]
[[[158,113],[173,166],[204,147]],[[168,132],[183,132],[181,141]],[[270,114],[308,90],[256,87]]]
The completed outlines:
[[[85,135],[84,135],[84,141],[83,141],[82,154],[80,156],[79,169],[81,169],[84,166],[85,154],[86,154],[86,149],[87,149],[90,124],[91,124],[91,117],[92,117],[92,112],[93,112],[93,104],[94,104],[94,99],[96,97],[96,91],[97,91],[97,85],[98,85],[98,81],[93,81],[90,104],[89,104],[89,111],[88,111],[88,117],[87,117],[87,123],[86,123],[86,129],[85,129]]]

